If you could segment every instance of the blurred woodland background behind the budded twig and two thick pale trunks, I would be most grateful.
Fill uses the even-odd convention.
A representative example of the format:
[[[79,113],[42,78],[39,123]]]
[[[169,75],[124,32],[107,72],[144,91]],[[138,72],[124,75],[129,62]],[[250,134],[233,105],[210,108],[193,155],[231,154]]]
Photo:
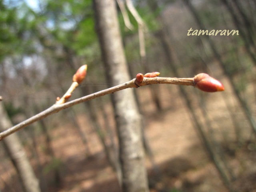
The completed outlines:
[[[204,72],[225,86],[212,94],[164,84],[134,89],[150,191],[255,191],[255,0],[133,0],[138,15],[123,4],[126,22],[118,3],[131,79],[140,72],[180,78]],[[188,36],[190,28],[239,35]],[[11,127],[54,104],[83,64],[86,79],[71,99],[111,86],[91,0],[0,1],[1,122]],[[41,191],[120,191],[113,111],[104,96],[17,133]],[[3,141],[0,191],[28,191]]]

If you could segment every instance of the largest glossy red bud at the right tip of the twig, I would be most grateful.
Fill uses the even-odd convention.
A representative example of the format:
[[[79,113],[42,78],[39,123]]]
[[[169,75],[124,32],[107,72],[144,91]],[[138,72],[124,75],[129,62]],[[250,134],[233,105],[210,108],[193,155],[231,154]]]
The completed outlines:
[[[224,86],[221,82],[205,73],[200,73],[194,77],[194,85],[205,92],[224,91]]]

